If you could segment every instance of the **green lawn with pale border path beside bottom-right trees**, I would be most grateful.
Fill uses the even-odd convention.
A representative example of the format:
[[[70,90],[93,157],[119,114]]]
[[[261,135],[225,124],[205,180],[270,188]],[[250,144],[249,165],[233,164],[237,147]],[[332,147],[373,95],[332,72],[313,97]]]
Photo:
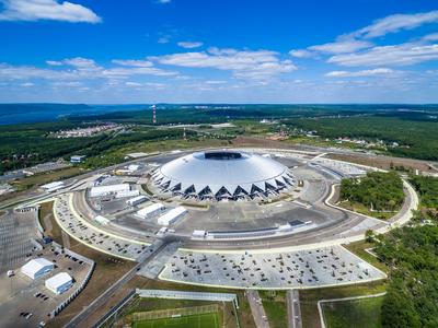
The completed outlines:
[[[323,303],[327,328],[380,328],[383,296]]]

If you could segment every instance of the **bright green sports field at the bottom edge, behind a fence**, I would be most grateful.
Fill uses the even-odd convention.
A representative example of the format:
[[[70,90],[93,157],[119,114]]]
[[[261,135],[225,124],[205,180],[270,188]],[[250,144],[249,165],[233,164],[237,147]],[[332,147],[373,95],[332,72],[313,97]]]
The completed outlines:
[[[217,313],[137,321],[134,328],[219,328]]]

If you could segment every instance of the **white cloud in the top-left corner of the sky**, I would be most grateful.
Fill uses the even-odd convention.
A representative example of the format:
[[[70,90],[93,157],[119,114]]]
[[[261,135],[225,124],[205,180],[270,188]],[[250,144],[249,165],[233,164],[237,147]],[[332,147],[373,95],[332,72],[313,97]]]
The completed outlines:
[[[0,0],[3,11],[0,21],[65,21],[100,23],[102,20],[92,10],[68,1],[58,0]]]

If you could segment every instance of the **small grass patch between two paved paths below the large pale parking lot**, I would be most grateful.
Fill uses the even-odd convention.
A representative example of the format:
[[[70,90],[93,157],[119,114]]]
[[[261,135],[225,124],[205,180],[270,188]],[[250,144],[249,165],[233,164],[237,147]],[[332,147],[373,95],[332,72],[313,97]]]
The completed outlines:
[[[285,291],[260,291],[263,307],[265,308],[272,328],[287,327],[287,308]]]

